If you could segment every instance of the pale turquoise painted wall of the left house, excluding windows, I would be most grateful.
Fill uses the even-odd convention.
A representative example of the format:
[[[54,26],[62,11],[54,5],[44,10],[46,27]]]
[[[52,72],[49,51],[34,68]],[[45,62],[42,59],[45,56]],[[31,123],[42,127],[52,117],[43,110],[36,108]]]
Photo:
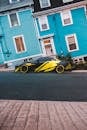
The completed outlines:
[[[41,53],[39,41],[36,37],[34,21],[31,10],[25,10],[18,12],[20,19],[20,26],[10,27],[8,15],[0,16],[0,33],[3,37],[0,38],[2,51],[4,54],[4,62],[15,59],[20,59],[27,56],[37,55]],[[17,35],[23,35],[27,51],[17,54],[13,37]],[[6,55],[7,51],[10,51],[10,55]]]

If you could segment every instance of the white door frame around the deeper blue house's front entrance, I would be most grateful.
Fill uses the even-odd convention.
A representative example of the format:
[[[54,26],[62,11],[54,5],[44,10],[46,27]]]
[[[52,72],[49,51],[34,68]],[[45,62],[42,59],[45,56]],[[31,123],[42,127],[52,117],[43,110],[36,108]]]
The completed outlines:
[[[46,39],[50,39],[51,43],[44,44],[43,41],[46,40]],[[45,45],[51,45],[52,50],[53,50],[53,55],[56,55],[56,49],[55,49],[53,37],[41,39],[41,46],[42,46],[42,51],[43,51],[44,55],[46,55]]]

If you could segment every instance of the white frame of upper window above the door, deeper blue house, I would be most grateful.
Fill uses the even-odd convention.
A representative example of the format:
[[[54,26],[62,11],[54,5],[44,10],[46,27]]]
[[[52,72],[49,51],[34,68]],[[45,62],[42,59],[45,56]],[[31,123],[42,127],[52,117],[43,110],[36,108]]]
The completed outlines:
[[[46,25],[47,25],[47,28],[46,28],[46,29],[43,29],[43,28],[42,28],[41,18],[42,18],[42,19],[45,19],[45,22],[44,22],[44,23],[46,23]],[[49,30],[48,17],[47,17],[46,15],[38,17],[38,23],[39,23],[40,31]]]

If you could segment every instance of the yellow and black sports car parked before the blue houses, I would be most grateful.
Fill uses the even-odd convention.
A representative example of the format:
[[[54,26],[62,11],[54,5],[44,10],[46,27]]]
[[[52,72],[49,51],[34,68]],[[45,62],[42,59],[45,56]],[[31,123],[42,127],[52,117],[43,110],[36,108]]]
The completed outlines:
[[[40,57],[31,62],[25,62],[15,67],[15,72],[52,72],[63,73],[65,70],[71,70],[71,64],[68,61],[61,61],[53,57]]]

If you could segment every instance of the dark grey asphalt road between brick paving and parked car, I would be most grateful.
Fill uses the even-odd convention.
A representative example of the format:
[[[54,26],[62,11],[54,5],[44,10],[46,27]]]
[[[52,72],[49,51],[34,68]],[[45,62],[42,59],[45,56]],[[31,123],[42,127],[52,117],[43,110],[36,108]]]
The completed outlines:
[[[87,73],[0,72],[0,99],[87,101]]]

